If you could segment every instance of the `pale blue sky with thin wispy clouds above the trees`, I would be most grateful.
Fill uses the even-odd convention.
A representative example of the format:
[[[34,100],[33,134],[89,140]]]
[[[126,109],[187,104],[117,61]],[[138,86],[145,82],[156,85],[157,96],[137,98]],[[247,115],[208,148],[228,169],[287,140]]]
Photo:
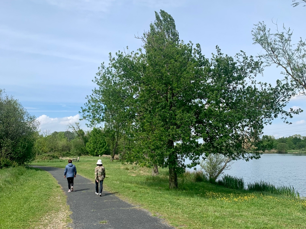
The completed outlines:
[[[91,94],[100,64],[108,53],[135,50],[134,38],[147,31],[154,11],[163,9],[176,22],[180,38],[200,43],[210,57],[219,45],[223,53],[244,50],[256,56],[251,30],[258,21],[275,29],[271,20],[294,30],[294,38],[306,38],[306,7],[282,1],[196,0],[4,0],[0,2],[0,88],[19,99],[38,117],[41,129],[60,131],[78,120],[80,106]],[[272,66],[260,81],[274,84],[282,78]],[[265,128],[276,137],[306,135],[306,103],[300,96],[289,107],[305,110],[289,127],[275,120]],[[305,126],[305,130],[303,129]],[[84,122],[82,126],[85,128]],[[278,129],[283,128],[283,129]]]

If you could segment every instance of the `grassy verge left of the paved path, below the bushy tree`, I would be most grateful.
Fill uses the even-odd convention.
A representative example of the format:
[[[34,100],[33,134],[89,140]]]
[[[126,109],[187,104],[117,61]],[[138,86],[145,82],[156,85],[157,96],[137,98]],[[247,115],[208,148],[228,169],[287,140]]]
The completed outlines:
[[[0,169],[0,229],[49,228],[54,220],[62,228],[68,217],[65,194],[49,173],[24,167]]]

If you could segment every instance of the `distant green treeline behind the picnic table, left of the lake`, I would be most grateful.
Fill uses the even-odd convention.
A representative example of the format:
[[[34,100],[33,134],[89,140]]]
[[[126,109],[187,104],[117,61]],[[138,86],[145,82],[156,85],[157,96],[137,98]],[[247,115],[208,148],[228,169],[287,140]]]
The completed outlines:
[[[36,159],[55,159],[68,156],[110,155],[114,151],[113,138],[110,131],[103,128],[94,128],[85,132],[78,123],[71,125],[70,130],[50,133],[44,131],[37,136],[34,144]],[[125,138],[122,138],[114,154],[124,154],[126,149]]]

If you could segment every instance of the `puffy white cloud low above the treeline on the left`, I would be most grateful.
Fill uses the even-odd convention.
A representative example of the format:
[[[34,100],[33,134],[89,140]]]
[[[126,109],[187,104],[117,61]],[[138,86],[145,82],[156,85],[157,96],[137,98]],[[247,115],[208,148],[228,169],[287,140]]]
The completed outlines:
[[[77,114],[62,118],[50,118],[47,115],[41,115],[36,120],[40,122],[39,128],[41,131],[50,130],[52,133],[53,131],[65,131],[69,123],[80,122],[80,115]],[[86,128],[84,121],[81,121],[81,124],[83,124],[83,128]]]

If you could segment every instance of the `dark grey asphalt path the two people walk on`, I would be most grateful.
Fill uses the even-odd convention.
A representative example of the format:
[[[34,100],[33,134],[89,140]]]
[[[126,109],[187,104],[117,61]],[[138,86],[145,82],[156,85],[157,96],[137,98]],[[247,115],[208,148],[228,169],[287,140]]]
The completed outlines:
[[[58,181],[67,194],[67,204],[70,206],[73,229],[173,229],[163,224],[158,217],[151,216],[145,210],[122,201],[107,191],[99,197],[95,194],[95,184],[87,178],[76,175],[74,192],[68,191],[67,179],[64,179],[64,169],[44,166],[33,166],[46,170]],[[106,220],[106,224],[100,221]]]

